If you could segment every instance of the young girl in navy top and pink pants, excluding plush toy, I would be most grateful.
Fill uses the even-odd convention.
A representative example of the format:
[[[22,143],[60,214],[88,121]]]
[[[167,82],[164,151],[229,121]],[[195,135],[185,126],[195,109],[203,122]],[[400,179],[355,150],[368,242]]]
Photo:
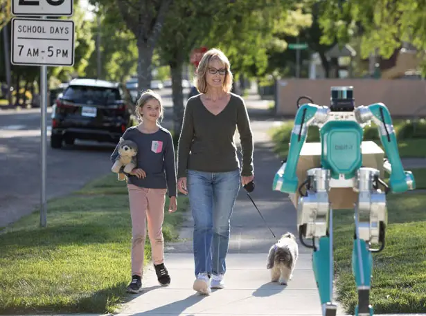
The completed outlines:
[[[136,104],[140,124],[128,128],[123,139],[138,145],[137,165],[127,174],[130,214],[132,217],[132,281],[127,290],[138,293],[142,288],[143,253],[146,238],[146,221],[152,248],[152,261],[161,285],[170,284],[164,266],[163,232],[166,192],[170,198],[169,212],[177,210],[175,149],[170,132],[159,125],[163,117],[161,98],[153,91],[142,93]],[[111,160],[118,156],[118,145]]]

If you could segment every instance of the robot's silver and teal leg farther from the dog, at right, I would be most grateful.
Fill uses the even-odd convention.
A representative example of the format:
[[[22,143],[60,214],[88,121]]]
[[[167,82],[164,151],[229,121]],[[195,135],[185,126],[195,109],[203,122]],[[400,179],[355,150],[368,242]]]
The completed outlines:
[[[387,205],[384,192],[378,190],[380,173],[373,168],[360,168],[357,172],[358,202],[355,205],[355,238],[353,241],[352,269],[358,290],[355,316],[373,315],[370,304],[372,252],[384,248],[384,232],[387,225]],[[381,243],[378,250],[371,243]]]

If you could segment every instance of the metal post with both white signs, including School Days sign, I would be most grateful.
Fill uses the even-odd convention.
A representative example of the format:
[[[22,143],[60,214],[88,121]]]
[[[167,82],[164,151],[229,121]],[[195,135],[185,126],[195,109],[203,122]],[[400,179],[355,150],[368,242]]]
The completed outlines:
[[[47,66],[73,66],[74,22],[47,19],[73,15],[73,0],[12,0],[12,15],[41,19],[12,19],[11,60],[14,65],[40,66],[41,171],[40,226],[47,225]]]

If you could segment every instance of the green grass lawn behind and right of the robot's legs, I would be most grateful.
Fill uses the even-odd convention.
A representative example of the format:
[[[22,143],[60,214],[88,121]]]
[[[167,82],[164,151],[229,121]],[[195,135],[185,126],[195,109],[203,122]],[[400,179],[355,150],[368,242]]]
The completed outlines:
[[[371,304],[375,313],[425,313],[426,194],[389,194],[386,245],[373,254]],[[346,313],[357,304],[352,274],[353,211],[334,212],[337,294]],[[353,314],[351,314],[353,315]]]

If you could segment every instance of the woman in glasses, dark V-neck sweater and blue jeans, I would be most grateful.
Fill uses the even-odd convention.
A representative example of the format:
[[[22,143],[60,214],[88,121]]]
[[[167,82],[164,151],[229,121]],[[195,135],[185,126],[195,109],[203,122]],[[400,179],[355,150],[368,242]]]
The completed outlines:
[[[240,185],[254,178],[249,116],[242,98],[230,92],[232,81],[224,53],[208,50],[197,68],[200,94],[186,104],[178,145],[177,187],[189,195],[194,219],[193,289],[205,295],[224,287],[231,214]],[[233,141],[237,128],[241,168]]]

